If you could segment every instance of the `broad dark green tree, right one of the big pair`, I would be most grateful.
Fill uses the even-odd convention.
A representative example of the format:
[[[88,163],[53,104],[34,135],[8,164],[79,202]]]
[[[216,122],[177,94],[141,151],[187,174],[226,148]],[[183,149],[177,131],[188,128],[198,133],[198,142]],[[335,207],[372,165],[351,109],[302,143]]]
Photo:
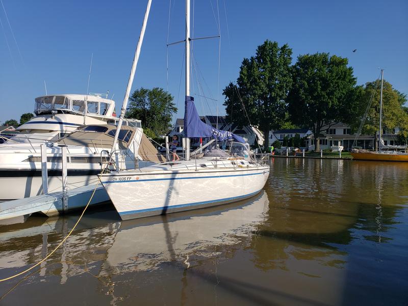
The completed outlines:
[[[320,132],[337,122],[349,123],[358,114],[353,69],[348,60],[328,53],[301,55],[293,66],[293,86],[288,95],[292,122],[308,127],[319,151]]]

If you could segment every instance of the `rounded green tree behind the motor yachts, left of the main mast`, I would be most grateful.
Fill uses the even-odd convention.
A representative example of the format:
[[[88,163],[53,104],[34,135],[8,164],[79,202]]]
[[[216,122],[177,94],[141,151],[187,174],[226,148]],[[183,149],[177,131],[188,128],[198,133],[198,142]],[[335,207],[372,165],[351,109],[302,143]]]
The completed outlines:
[[[140,88],[130,97],[127,118],[142,121],[143,129],[149,129],[156,135],[167,134],[171,127],[171,118],[177,112],[173,96],[163,88]]]

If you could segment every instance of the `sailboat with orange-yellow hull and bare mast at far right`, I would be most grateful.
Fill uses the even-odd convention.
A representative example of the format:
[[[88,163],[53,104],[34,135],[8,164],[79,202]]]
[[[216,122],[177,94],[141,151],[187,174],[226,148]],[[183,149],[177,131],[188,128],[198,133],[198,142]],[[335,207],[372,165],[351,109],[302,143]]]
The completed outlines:
[[[384,69],[381,69],[381,91],[380,91],[380,110],[379,110],[379,141],[378,151],[368,151],[365,149],[352,149],[350,154],[354,160],[382,161],[382,162],[408,162],[408,153],[400,151],[382,150],[382,83],[384,81]]]

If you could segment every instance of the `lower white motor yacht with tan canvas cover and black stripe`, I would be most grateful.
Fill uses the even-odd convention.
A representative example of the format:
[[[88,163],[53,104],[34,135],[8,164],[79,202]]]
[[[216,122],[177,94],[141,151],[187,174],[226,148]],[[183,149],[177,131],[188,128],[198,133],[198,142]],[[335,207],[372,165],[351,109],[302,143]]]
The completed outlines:
[[[67,147],[68,189],[95,184],[115,132],[113,124],[84,125],[56,142],[47,142],[48,192],[62,190],[62,146]],[[122,126],[116,147],[120,169],[165,161],[141,127]],[[0,146],[0,201],[42,193],[41,143]]]

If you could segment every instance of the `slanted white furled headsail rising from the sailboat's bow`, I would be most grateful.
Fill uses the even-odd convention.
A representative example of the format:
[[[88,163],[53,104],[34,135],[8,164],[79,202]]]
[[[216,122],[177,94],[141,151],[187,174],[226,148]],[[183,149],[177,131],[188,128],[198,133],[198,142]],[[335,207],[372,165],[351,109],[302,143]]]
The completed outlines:
[[[139,60],[140,49],[142,48],[144,32],[146,30],[147,19],[149,17],[149,12],[150,12],[150,6],[151,6],[151,0],[148,0],[146,12],[144,13],[142,29],[140,31],[139,40],[138,40],[137,46],[136,46],[135,57],[133,58],[131,74],[129,75],[129,81],[127,81],[126,92],[124,94],[123,103],[122,103],[122,109],[120,110],[120,117],[119,117],[119,121],[118,121],[118,126],[116,128],[115,138],[114,138],[113,144],[112,144],[112,152],[115,151],[115,147],[116,147],[116,144],[118,142],[120,127],[122,126],[124,113],[126,112],[126,109],[127,109],[127,101],[129,100],[129,95],[130,95],[130,92],[131,92],[133,79],[135,77],[136,66],[137,66],[137,62]],[[134,153],[136,154],[136,152],[134,152]]]

